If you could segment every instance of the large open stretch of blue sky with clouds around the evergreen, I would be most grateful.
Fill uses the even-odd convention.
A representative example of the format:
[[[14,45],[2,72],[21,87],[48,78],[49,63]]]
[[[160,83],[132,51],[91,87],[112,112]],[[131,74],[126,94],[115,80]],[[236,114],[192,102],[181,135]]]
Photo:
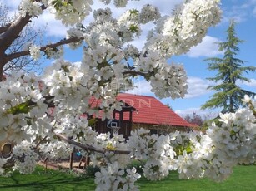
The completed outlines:
[[[178,112],[186,113],[191,110],[199,110],[200,105],[213,95],[213,91],[207,91],[205,87],[209,84],[205,78],[213,77],[214,72],[208,71],[207,62],[204,59],[212,56],[222,57],[223,54],[218,52],[217,47],[214,47],[212,41],[225,41],[226,30],[228,28],[230,18],[235,19],[237,23],[237,36],[244,42],[239,45],[240,52],[238,58],[246,62],[246,66],[256,66],[256,1],[255,0],[225,0],[222,1],[223,19],[217,27],[210,28],[208,31],[207,40],[205,44],[200,44],[193,48],[188,55],[175,58],[175,61],[182,62],[188,74],[188,95],[187,98],[181,100],[170,100],[170,105],[173,110],[180,110]],[[206,38],[205,38],[206,39]],[[205,40],[204,39],[204,40]],[[216,42],[216,41],[215,41]],[[200,52],[202,52],[200,54]],[[251,83],[244,84],[241,82],[240,86],[249,91],[256,91],[256,76],[255,73],[244,74],[251,79]],[[208,112],[208,111],[207,111]]]

